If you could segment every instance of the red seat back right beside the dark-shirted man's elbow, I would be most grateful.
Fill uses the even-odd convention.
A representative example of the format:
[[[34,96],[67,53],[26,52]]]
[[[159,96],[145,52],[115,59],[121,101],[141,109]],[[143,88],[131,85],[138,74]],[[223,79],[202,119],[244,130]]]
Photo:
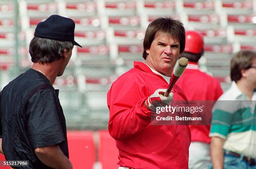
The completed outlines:
[[[68,131],[69,159],[74,169],[93,169],[95,144],[93,132]]]

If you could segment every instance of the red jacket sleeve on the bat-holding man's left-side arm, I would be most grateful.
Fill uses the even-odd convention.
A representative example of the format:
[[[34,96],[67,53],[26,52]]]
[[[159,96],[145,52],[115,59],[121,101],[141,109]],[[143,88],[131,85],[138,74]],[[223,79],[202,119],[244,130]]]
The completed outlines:
[[[151,111],[144,102],[150,95],[141,79],[120,78],[108,92],[108,130],[116,140],[127,139],[151,123]]]

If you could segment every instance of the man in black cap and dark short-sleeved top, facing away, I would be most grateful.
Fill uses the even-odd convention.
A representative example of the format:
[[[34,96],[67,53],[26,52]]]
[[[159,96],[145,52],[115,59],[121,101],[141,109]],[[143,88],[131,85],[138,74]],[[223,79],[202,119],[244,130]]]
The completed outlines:
[[[33,66],[0,93],[0,143],[6,160],[27,160],[18,169],[72,169],[58,90],[52,86],[72,55],[74,21],[51,15],[30,42]],[[81,46],[80,46],[81,47]]]

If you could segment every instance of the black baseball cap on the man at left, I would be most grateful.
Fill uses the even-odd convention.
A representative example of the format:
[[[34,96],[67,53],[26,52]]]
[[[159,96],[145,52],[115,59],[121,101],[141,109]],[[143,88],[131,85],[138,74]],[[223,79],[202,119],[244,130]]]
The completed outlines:
[[[35,37],[52,40],[71,41],[74,45],[82,47],[74,41],[75,23],[72,19],[59,15],[51,15],[45,21],[38,23]]]

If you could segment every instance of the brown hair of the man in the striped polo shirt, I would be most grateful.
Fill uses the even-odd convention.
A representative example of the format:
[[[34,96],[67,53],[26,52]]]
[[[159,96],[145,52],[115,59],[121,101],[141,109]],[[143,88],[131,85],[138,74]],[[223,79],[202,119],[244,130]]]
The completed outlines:
[[[242,50],[236,53],[230,62],[230,78],[237,82],[241,79],[241,70],[249,69],[253,59],[256,59],[256,52],[251,50]]]

